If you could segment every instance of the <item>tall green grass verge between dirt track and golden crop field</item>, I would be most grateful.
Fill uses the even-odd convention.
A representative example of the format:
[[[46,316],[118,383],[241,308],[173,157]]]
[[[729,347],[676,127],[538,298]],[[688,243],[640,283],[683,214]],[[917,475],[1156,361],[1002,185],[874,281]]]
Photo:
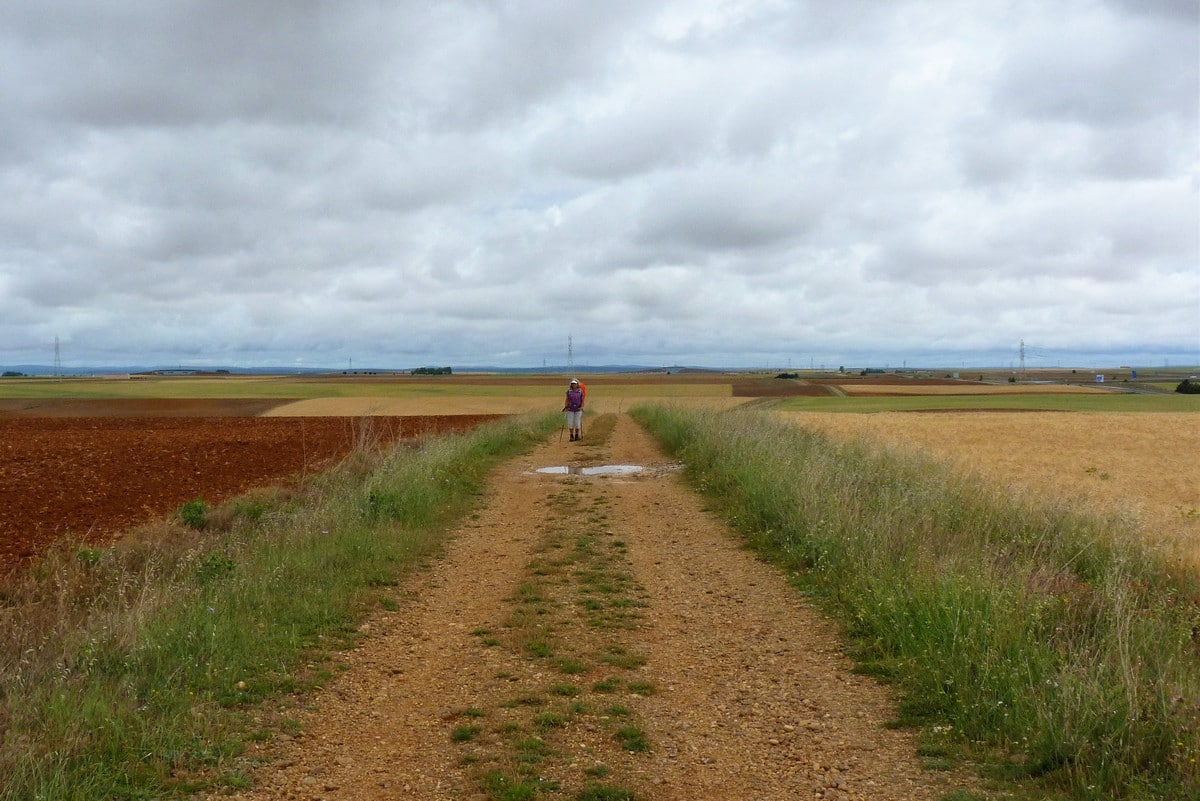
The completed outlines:
[[[898,724],[1037,797],[1200,797],[1193,573],[923,457],[763,414],[635,416],[898,685]]]

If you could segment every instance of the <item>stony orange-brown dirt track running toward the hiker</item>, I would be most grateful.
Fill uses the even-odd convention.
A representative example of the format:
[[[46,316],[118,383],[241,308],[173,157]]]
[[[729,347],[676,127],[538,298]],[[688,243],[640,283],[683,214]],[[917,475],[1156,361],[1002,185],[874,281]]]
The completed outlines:
[[[505,465],[238,796],[937,799],[888,692],[619,417]],[[638,465],[635,475],[539,474]],[[620,790],[634,795],[620,795]],[[222,796],[227,797],[227,796]]]

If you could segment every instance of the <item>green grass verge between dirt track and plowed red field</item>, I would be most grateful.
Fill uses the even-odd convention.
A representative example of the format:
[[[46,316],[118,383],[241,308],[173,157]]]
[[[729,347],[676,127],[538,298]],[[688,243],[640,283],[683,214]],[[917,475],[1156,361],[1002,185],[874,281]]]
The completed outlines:
[[[269,703],[334,675],[331,654],[438,549],[490,469],[558,420],[358,454],[299,493],[234,501],[221,526],[62,548],[5,583],[0,800],[245,785],[236,757],[271,736]]]

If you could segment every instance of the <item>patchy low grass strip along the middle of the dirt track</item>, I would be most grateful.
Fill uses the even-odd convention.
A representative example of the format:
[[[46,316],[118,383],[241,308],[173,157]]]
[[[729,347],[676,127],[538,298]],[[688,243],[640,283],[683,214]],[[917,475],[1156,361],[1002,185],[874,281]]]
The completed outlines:
[[[622,777],[652,747],[636,711],[655,689],[638,677],[646,594],[602,482],[569,478],[542,502],[540,540],[509,616],[474,630],[480,648],[506,650],[515,667],[497,676],[502,694],[451,716],[448,736],[494,801],[631,801]]]

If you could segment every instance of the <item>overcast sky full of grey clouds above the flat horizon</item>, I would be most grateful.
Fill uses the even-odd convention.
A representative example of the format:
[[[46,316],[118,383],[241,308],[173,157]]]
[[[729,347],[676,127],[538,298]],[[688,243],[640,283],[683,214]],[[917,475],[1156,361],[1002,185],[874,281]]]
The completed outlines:
[[[1200,365],[1196,0],[7,0],[0,367]]]

